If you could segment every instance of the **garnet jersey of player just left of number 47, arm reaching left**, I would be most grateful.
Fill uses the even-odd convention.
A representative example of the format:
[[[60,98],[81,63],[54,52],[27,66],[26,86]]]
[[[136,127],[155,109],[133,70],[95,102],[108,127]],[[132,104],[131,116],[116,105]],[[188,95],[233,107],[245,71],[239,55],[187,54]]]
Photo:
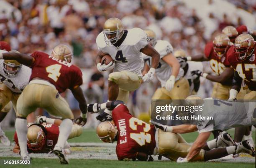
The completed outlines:
[[[226,59],[226,54],[219,58],[214,52],[212,42],[207,43],[205,46],[205,57],[210,60],[211,69],[217,75],[220,75],[226,67],[230,67],[228,60]]]

